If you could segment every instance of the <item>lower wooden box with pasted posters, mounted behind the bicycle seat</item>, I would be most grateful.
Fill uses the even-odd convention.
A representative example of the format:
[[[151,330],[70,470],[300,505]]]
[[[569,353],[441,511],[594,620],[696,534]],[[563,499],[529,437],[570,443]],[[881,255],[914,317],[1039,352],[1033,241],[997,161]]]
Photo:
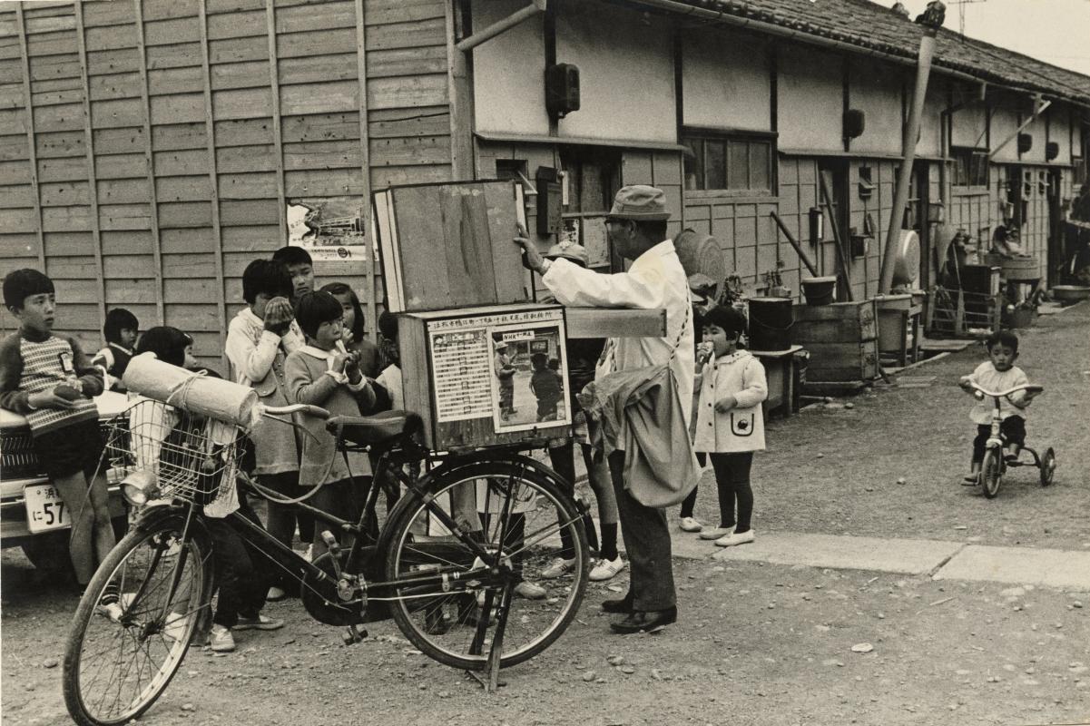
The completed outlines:
[[[567,336],[560,305],[522,303],[402,313],[398,337],[405,408],[423,418],[428,447],[440,451],[475,448],[564,436],[570,431]],[[510,379],[510,413],[505,411],[497,375],[498,343],[516,368]]]

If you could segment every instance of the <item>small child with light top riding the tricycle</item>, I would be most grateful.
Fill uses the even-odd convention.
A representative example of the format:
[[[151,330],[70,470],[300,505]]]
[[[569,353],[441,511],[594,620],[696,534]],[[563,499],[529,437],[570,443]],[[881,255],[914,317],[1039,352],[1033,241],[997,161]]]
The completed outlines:
[[[988,360],[977,366],[967,376],[961,376],[958,385],[967,392],[972,392],[970,383],[981,388],[994,391],[1007,390],[1015,386],[1029,383],[1026,372],[1015,365],[1018,359],[1018,336],[1009,330],[993,332],[984,341],[988,347]],[[1018,458],[1018,452],[1026,445],[1026,407],[1033,400],[1033,394],[1025,390],[1016,391],[1000,401],[1000,415],[1003,423],[1000,432],[1010,449],[1010,457]],[[992,433],[992,409],[994,402],[989,397],[978,400],[969,411],[969,418],[977,424],[977,437],[972,440],[972,463],[966,484],[976,484],[980,465],[984,460],[984,448]]]

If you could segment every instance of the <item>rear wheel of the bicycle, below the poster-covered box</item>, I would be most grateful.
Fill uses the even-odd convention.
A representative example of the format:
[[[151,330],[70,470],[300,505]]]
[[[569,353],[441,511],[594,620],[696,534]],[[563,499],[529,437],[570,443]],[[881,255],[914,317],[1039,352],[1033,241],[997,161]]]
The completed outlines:
[[[518,461],[459,467],[440,473],[425,493],[426,501],[413,495],[391,512],[386,540],[386,577],[395,583],[390,612],[401,631],[443,664],[481,670],[506,600],[500,667],[548,648],[576,617],[586,590],[590,555],[576,504]],[[436,507],[472,532],[489,561],[439,521]],[[567,573],[543,579],[557,557],[567,560]]]

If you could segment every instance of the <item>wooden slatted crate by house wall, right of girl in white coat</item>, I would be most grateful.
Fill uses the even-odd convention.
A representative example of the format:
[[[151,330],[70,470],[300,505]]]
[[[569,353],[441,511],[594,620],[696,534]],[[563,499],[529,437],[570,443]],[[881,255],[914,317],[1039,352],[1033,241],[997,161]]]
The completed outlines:
[[[804,388],[827,392],[879,376],[874,300],[796,307],[791,331],[794,342],[810,353]]]

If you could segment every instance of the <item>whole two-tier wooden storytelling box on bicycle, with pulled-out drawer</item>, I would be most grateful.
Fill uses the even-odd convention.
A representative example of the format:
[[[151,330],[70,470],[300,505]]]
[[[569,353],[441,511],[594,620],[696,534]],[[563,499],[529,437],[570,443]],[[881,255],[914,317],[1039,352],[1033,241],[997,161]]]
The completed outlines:
[[[569,433],[569,322],[572,337],[665,335],[663,310],[532,302],[512,241],[521,210],[521,187],[505,181],[392,186],[374,195],[404,406],[424,419],[432,449]],[[516,370],[510,383],[497,375],[500,355]]]

